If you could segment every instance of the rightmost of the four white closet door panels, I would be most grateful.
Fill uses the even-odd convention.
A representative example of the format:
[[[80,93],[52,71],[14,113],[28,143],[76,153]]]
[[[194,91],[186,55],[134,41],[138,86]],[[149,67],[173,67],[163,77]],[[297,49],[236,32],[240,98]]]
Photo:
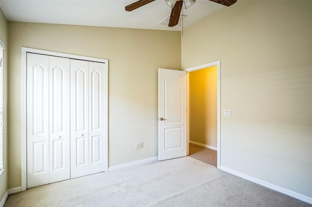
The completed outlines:
[[[89,172],[105,171],[104,130],[105,65],[89,62]]]

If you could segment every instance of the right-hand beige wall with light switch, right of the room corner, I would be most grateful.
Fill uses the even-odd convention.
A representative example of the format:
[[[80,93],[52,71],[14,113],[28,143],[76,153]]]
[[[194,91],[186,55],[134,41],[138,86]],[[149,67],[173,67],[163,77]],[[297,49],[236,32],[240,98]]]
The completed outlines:
[[[182,69],[220,60],[221,166],[312,197],[312,1],[243,1],[184,30]],[[222,115],[222,113],[221,113]]]

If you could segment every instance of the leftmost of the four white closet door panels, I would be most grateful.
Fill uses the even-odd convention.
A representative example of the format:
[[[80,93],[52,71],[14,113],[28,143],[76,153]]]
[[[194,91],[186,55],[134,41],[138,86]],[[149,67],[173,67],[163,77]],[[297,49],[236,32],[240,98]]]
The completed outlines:
[[[49,56],[27,53],[27,188],[49,183]]]

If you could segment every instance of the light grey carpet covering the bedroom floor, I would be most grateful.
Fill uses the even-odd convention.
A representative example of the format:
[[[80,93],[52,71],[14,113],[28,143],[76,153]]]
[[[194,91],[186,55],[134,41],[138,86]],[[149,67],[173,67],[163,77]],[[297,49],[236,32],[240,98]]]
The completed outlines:
[[[4,206],[312,207],[189,156],[36,187]]]

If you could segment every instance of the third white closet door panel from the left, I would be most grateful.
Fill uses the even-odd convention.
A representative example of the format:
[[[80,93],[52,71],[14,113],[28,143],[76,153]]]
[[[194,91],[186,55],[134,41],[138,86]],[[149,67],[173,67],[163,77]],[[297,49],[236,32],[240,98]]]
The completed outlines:
[[[89,174],[88,62],[70,61],[71,178]]]

